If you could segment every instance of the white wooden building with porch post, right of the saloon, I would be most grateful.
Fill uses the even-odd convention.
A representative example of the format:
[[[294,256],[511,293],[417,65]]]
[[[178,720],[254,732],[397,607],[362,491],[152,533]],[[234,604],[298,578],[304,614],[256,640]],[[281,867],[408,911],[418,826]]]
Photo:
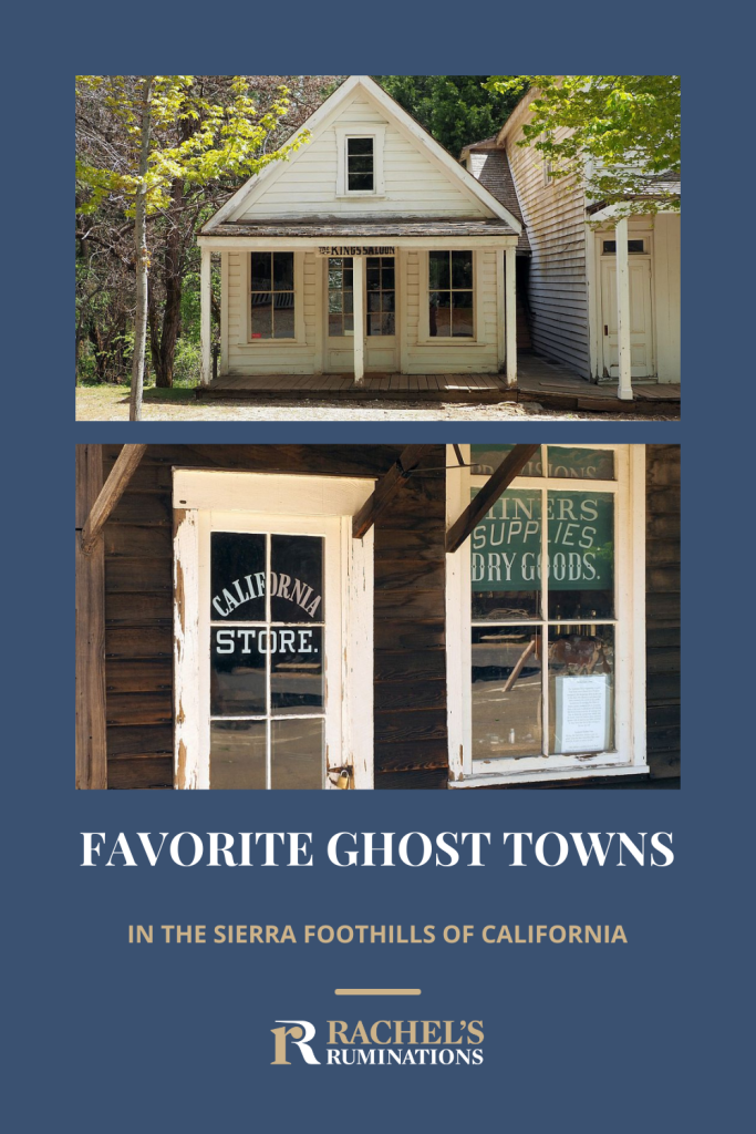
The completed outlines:
[[[467,168],[499,151],[527,228],[526,302],[538,352],[594,382],[680,382],[680,213],[618,220],[581,183],[553,179],[544,155],[520,146],[537,92],[526,95],[494,139],[468,146]],[[559,137],[559,135],[558,135]],[[663,184],[679,195],[680,186]]]

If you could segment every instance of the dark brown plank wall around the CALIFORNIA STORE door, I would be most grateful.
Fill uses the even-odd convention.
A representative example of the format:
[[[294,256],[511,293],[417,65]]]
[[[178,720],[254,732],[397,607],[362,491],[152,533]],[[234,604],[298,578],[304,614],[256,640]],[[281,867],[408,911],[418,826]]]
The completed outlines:
[[[173,786],[172,467],[380,476],[401,449],[147,448],[104,530],[109,787]],[[376,788],[447,786],[444,464],[439,446],[376,524]]]

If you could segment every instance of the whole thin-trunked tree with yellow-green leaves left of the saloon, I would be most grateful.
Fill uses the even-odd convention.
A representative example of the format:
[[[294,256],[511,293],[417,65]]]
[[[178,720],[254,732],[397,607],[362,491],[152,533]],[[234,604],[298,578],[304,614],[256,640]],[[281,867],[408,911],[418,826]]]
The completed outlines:
[[[130,420],[142,417],[147,332],[150,249],[147,220],[165,213],[177,186],[209,185],[250,177],[301,145],[265,152],[265,143],[288,110],[286,88],[260,113],[248,78],[233,76],[230,96],[209,98],[193,75],[79,75],[77,91],[96,92],[113,122],[107,164],[77,159],[77,211],[95,212],[105,201],[121,203],[134,221],[136,313],[131,362]]]

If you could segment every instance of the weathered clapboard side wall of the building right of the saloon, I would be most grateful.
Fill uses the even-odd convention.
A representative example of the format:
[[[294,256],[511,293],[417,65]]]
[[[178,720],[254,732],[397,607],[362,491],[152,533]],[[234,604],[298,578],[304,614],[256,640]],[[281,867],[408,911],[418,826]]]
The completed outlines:
[[[541,354],[589,378],[585,194],[572,179],[546,181],[538,151],[518,145],[529,101],[515,112],[506,144],[533,254],[530,337]]]

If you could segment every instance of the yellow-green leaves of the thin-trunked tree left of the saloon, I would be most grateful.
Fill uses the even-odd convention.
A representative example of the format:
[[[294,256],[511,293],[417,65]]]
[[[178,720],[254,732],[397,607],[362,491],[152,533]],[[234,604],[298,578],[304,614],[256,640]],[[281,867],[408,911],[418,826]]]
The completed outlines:
[[[77,160],[78,212],[88,214],[110,196],[134,202],[142,185],[138,176],[142,88],[126,75],[77,75],[77,93],[96,92],[108,111],[120,124],[124,155],[112,167],[95,167]],[[245,76],[235,75],[229,98],[213,102],[204,96],[193,75],[156,75],[152,96],[150,162],[145,179],[147,213],[167,209],[170,191],[177,180],[207,185],[221,177],[250,177],[261,169],[288,156],[307,138],[264,153],[269,134],[287,113],[286,87],[264,113]],[[127,209],[131,215],[134,205]]]

